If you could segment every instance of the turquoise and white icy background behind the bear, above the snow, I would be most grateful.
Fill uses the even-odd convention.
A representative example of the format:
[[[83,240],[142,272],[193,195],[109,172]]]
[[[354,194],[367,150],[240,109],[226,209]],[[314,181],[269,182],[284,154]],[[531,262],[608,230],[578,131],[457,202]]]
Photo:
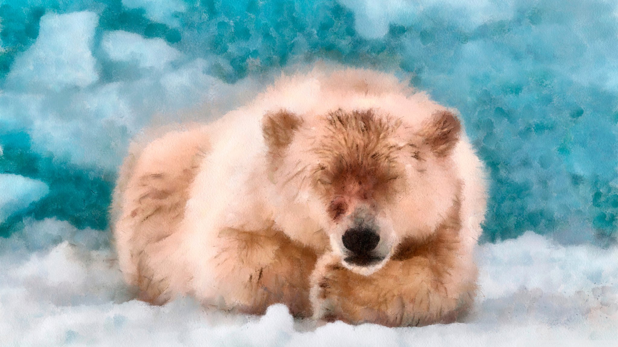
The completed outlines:
[[[606,245],[618,224],[616,9],[0,0],[0,235],[46,218],[104,233],[117,165],[145,125],[191,119],[177,111],[198,104],[210,119],[282,67],[328,59],[412,77],[459,109],[491,176],[485,241],[533,230]]]

